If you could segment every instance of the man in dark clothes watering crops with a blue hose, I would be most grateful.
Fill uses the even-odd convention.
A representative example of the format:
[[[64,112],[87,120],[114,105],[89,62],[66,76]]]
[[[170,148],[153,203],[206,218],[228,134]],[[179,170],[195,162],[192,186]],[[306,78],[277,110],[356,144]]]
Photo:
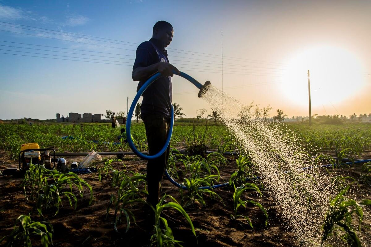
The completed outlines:
[[[174,29],[166,21],[158,21],[152,32],[152,38],[144,41],[137,48],[133,66],[132,79],[139,81],[137,91],[153,74],[160,72],[162,77],[152,83],[143,93],[141,104],[141,118],[144,122],[149,155],[158,153],[165,145],[170,123],[170,106],[172,97],[171,76],[178,69],[169,63],[167,47],[173,40]],[[167,150],[158,158],[148,160],[147,163],[147,202],[156,206],[160,196],[160,181],[164,175],[169,156]]]

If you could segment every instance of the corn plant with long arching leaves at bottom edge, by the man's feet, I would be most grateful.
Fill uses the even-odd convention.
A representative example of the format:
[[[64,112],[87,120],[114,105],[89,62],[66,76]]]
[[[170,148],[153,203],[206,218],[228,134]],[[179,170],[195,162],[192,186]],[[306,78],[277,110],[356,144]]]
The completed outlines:
[[[170,198],[172,201],[165,203],[165,198]],[[193,235],[196,237],[196,231],[194,230],[193,223],[191,221],[191,218],[188,216],[188,214],[185,212],[184,208],[180,206],[180,204],[175,200],[174,197],[165,195],[161,198],[160,202],[157,203],[156,207],[152,207],[152,210],[155,212],[155,224],[154,224],[154,234],[151,236],[151,246],[182,246],[182,241],[178,241],[174,239],[173,231],[169,227],[167,220],[164,217],[161,217],[161,212],[164,210],[164,208],[173,208],[175,210],[178,210],[184,218],[188,221],[191,231]]]

